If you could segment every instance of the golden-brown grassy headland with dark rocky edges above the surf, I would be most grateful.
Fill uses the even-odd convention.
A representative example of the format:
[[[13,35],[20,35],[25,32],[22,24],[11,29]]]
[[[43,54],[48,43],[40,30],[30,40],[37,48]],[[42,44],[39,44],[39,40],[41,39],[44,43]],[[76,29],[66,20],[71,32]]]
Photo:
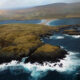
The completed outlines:
[[[44,44],[42,37],[52,35],[57,27],[40,24],[5,24],[0,26],[0,63],[11,60],[28,61],[58,60],[64,57],[66,51],[58,46]],[[34,58],[35,57],[35,58]]]

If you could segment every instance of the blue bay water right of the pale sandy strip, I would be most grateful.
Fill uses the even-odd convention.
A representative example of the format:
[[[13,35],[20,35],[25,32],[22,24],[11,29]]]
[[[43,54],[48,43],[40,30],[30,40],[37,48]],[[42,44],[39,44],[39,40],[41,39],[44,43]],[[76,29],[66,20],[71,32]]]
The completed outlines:
[[[51,25],[51,26],[76,25],[76,24],[80,24],[80,18],[56,19],[48,23],[48,25]]]

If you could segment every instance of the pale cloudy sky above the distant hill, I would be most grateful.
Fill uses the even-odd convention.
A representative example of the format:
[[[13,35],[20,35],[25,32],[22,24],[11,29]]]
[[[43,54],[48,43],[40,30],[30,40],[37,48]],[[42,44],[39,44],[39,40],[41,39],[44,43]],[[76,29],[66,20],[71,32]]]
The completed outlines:
[[[80,0],[0,0],[0,9],[29,8],[51,3],[72,3]]]

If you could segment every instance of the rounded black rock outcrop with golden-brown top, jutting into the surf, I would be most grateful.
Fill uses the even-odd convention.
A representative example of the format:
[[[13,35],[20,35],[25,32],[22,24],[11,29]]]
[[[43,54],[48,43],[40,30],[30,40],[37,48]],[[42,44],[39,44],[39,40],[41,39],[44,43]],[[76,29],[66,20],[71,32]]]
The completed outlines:
[[[43,63],[44,61],[59,61],[65,57],[67,52],[61,49],[58,46],[52,46],[50,44],[44,44],[43,46],[39,47],[29,58],[27,61],[32,63],[39,62]]]

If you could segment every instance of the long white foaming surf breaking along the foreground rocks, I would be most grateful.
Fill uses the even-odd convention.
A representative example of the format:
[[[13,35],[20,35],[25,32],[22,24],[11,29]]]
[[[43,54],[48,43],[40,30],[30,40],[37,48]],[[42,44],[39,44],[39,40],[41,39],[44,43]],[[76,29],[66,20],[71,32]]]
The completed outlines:
[[[12,74],[20,74],[19,72],[15,72],[17,69],[23,69],[24,72],[29,73],[30,80],[38,80],[39,78],[47,75],[49,70],[58,71],[58,72],[66,72],[71,73],[77,67],[80,67],[80,59],[76,56],[80,53],[68,51],[69,55],[66,56],[63,60],[57,63],[44,62],[43,65],[38,63],[23,63],[18,61],[12,61],[8,64],[4,63],[0,65],[0,71],[5,69],[10,69]]]

